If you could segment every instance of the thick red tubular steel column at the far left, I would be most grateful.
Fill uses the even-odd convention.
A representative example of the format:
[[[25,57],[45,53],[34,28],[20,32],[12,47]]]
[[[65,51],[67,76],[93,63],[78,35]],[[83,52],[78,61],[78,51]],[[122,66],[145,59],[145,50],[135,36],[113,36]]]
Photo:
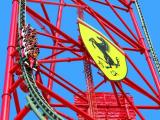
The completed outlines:
[[[12,17],[10,25],[10,35],[7,48],[7,63],[5,71],[4,89],[2,95],[1,120],[9,120],[10,100],[9,88],[12,83],[12,74],[9,72],[13,65],[13,57],[11,53],[14,51],[15,41],[17,37],[17,21],[18,21],[18,0],[13,0]]]

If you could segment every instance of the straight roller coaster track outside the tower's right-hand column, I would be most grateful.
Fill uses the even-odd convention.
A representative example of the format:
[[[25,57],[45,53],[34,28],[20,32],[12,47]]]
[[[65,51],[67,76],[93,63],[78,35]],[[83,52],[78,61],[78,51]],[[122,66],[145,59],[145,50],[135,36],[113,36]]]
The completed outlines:
[[[150,38],[148,29],[147,29],[147,25],[146,25],[145,19],[143,17],[143,14],[142,14],[142,11],[141,11],[138,0],[135,1],[135,5],[136,5],[136,8],[137,8],[137,11],[138,11],[138,14],[139,14],[139,18],[141,20],[142,28],[143,28],[143,31],[144,31],[144,34],[145,34],[145,37],[146,37],[146,40],[147,40],[147,44],[148,44],[151,56],[153,58],[153,62],[155,64],[156,68],[157,68],[158,74],[160,75],[160,62],[159,62],[157,54],[154,50],[152,40]]]

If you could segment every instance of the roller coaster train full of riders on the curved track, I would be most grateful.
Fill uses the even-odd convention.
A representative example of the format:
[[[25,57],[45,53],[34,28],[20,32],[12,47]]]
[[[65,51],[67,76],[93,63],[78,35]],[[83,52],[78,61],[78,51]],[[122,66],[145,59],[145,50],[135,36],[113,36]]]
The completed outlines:
[[[39,48],[37,48],[36,30],[32,29],[28,24],[22,29],[22,32],[21,46],[23,61],[25,64],[29,65],[30,68],[36,70],[36,58],[39,54]]]

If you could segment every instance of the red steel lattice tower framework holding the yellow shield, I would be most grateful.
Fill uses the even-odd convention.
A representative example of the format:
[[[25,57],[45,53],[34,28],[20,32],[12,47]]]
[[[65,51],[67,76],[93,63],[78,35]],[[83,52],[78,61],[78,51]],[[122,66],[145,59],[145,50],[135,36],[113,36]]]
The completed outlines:
[[[131,8],[133,1],[128,2],[127,0],[119,0],[121,4],[119,6],[114,5],[107,0],[105,0],[104,2],[99,0],[91,1],[95,4],[101,4],[105,7],[110,8],[113,14],[117,17],[117,19],[124,25],[129,35],[127,34],[127,32],[123,31],[121,28],[119,28],[114,23],[105,18],[103,15],[101,15],[101,13],[97,12],[85,1],[72,0],[72,3],[67,3],[65,2],[65,0],[60,0],[59,2],[28,0],[29,3],[40,4],[40,8],[44,13],[44,15],[42,15],[38,11],[36,11],[36,9],[27,6],[28,15],[31,16],[37,26],[42,29],[39,31],[37,30],[38,36],[47,37],[51,40],[51,44],[49,45],[37,45],[40,49],[52,51],[50,55],[38,60],[39,66],[37,68],[37,72],[35,73],[37,86],[41,90],[44,98],[49,102],[49,104],[54,108],[54,110],[56,110],[57,113],[59,113],[61,116],[68,120],[78,118],[80,120],[117,120],[118,118],[135,120],[136,115],[139,116],[140,119],[144,120],[145,116],[143,116],[143,114],[141,113],[141,109],[160,109],[160,82],[156,74],[156,70],[154,69],[152,60],[149,57],[149,51],[145,45],[143,35],[138,26],[133,9]],[[47,6],[49,5],[52,5],[53,7],[56,6],[58,8],[57,14],[54,17],[50,17],[49,15],[51,12],[47,9]],[[84,20],[87,19],[83,14],[84,12],[85,14],[90,15],[90,17],[92,17],[95,21],[97,21],[97,23],[99,23],[104,32],[110,37],[110,39],[124,51],[141,53],[145,57],[144,61],[147,61],[146,65],[149,66],[151,78],[147,78],[147,76],[144,75],[143,71],[141,71],[141,69],[136,65],[135,61],[132,60],[132,57],[130,57],[127,52],[125,56],[130,67],[132,67],[133,70],[140,76],[140,78],[138,79],[143,81],[143,83],[148,87],[148,89],[146,90],[145,88],[141,87],[141,84],[138,84],[135,81],[136,78],[128,78],[128,76],[119,83],[110,82],[105,76],[103,76],[101,72],[97,72],[92,76],[92,71],[85,68],[85,65],[87,63],[95,69],[97,69],[97,65],[90,58],[87,51],[85,50],[79,34],[76,36],[76,38],[72,38],[71,34],[67,34],[65,31],[63,31],[63,29],[61,29],[64,23],[69,24],[68,22],[63,20],[65,7],[76,9],[78,11],[77,16]],[[128,21],[123,19],[123,16],[121,16],[119,11],[126,12],[129,17],[131,17],[131,21],[134,27],[134,29],[132,28],[133,30],[128,25]],[[53,23],[52,19],[54,19],[56,22]],[[77,25],[75,21],[73,24]],[[16,120],[23,119],[26,115],[28,115],[27,113],[30,111],[28,106],[22,107],[21,101],[23,100],[20,99],[18,94],[19,91],[17,89],[18,87],[20,87],[20,90],[22,90],[24,94],[28,92],[26,89],[26,84],[24,83],[21,75],[22,71],[18,64],[18,61],[16,61],[19,59],[18,52],[16,51],[17,32],[15,31],[17,31],[17,22],[18,1],[13,0],[4,90],[2,95],[2,107],[0,115],[1,120],[10,119],[11,95],[13,95],[12,99],[15,103],[16,115],[14,116],[14,118]],[[115,36],[118,36],[119,39],[127,43],[128,46],[121,46],[120,42],[118,41],[119,39],[117,40],[117,37]],[[71,53],[72,57],[67,56],[64,58],[58,58],[58,56],[63,54],[64,52]],[[66,79],[63,75],[57,73],[56,65],[64,62],[67,62],[68,64],[71,62],[84,63],[83,70],[86,77],[85,75],[77,76],[76,78],[74,78],[74,81],[72,81],[71,79]],[[49,67],[46,65],[46,63],[49,64]],[[87,72],[89,73],[88,75]],[[17,76],[18,79],[15,79],[13,74]],[[94,75],[100,76],[101,79],[97,82]],[[85,80],[82,80],[82,78],[84,77]],[[77,79],[81,80],[81,82],[85,85],[85,89],[82,89],[82,87],[80,87],[79,85],[75,85],[75,80]],[[45,83],[46,81],[47,85]],[[153,83],[156,85],[156,87],[153,85]],[[103,91],[97,92],[99,88],[101,88],[102,86],[104,87],[104,84],[110,85],[111,91],[104,92],[106,90],[103,89]],[[64,89],[72,97],[68,98],[68,96],[65,96],[64,94],[59,94],[58,92],[56,93],[56,91],[52,91],[54,89],[54,86],[56,87],[57,85]],[[126,90],[123,87],[124,85],[127,86],[129,89],[138,92],[140,95],[145,96],[147,99],[154,102],[155,105],[143,104],[142,102],[141,104],[136,104],[136,102],[134,102],[134,94],[127,94],[126,92],[130,91],[128,89]],[[52,102],[51,99],[55,99],[56,101],[58,101],[58,103]],[[74,112],[74,115],[77,115],[77,117],[74,118],[72,117],[72,114],[61,112],[57,108],[67,108],[69,110],[72,110]]]

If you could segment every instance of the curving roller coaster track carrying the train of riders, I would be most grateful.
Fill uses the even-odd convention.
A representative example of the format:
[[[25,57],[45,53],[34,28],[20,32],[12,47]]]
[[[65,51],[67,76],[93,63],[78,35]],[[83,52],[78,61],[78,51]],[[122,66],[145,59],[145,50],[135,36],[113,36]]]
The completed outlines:
[[[26,0],[20,0],[19,2],[19,30],[22,30],[22,28],[25,25],[25,15],[26,14]],[[20,38],[20,32],[19,32],[19,38]],[[20,41],[20,39],[19,39]],[[26,82],[26,85],[29,90],[29,95],[27,95],[27,101],[29,107],[33,110],[33,112],[37,115],[37,117],[41,120],[63,120],[63,118],[58,115],[51,106],[47,103],[47,101],[44,99],[44,97],[41,95],[41,93],[38,90],[38,87],[34,81],[34,75],[32,74],[32,69],[27,67],[24,64],[24,61],[22,59],[22,52],[21,52],[21,46],[19,43],[19,55],[20,55],[20,65],[23,72],[23,78]]]

